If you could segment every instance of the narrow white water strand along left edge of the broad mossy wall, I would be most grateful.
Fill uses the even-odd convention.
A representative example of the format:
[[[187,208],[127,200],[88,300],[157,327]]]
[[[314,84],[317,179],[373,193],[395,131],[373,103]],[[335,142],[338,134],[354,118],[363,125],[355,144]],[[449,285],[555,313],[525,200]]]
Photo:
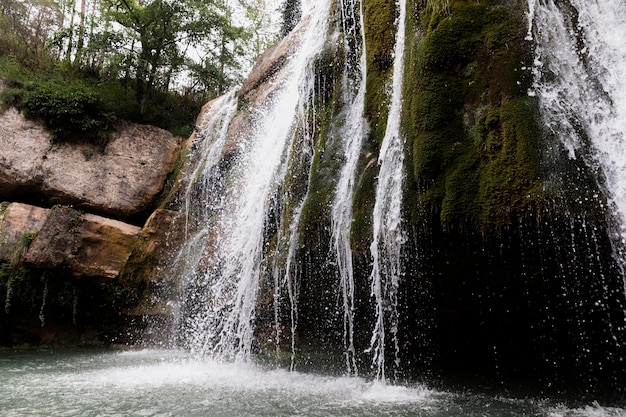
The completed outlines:
[[[393,343],[394,364],[399,364],[398,286],[402,277],[400,252],[406,241],[402,229],[402,185],[404,180],[404,142],[400,135],[406,3],[398,2],[399,14],[394,48],[393,91],[385,137],[378,157],[379,174],[374,204],[374,235],[371,244],[373,268],[372,296],[376,321],[369,350],[373,353],[376,376],[385,380],[385,350]]]

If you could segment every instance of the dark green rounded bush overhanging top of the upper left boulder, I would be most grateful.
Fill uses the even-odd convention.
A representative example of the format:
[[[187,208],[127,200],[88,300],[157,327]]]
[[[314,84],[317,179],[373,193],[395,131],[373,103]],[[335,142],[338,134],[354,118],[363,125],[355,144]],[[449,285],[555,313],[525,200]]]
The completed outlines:
[[[79,82],[37,84],[24,93],[21,107],[27,117],[44,123],[53,140],[100,142],[113,121],[100,97]]]

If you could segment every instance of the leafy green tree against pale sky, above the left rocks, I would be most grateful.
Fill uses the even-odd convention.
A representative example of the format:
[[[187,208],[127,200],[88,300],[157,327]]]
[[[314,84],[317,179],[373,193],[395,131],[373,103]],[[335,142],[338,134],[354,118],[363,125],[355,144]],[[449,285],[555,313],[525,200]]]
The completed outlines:
[[[105,0],[112,20],[131,44],[126,63],[134,72],[139,103],[152,90],[168,91],[174,78],[193,74],[219,93],[231,83],[237,44],[245,32],[232,24],[225,4],[201,0]],[[196,59],[190,58],[195,55]],[[212,82],[206,77],[211,76]]]

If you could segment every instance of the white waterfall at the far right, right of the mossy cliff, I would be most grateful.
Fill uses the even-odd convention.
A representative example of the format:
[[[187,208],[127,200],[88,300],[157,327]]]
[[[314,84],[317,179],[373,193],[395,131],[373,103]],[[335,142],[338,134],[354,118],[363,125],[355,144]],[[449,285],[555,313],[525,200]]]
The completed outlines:
[[[626,245],[626,3],[529,0],[535,85],[545,124],[570,158],[597,171],[614,212],[614,252]]]

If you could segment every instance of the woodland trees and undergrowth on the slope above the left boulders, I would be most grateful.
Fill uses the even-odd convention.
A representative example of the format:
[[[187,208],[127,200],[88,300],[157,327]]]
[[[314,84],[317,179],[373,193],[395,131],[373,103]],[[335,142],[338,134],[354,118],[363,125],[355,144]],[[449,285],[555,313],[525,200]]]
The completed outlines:
[[[35,108],[47,98],[90,115],[90,102],[73,101],[83,89],[106,114],[184,134],[202,104],[241,80],[243,57],[275,40],[264,31],[267,0],[234,3],[252,22],[245,28],[227,1],[0,0],[2,99],[37,117],[52,117]]]

